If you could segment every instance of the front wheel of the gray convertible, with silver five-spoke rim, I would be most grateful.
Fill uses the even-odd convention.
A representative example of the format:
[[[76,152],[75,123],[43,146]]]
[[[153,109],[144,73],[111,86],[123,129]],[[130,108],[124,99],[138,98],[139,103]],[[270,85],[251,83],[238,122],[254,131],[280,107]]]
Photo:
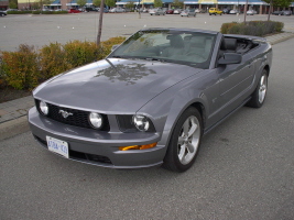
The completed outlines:
[[[202,116],[196,108],[190,107],[176,122],[163,160],[163,167],[178,173],[187,170],[196,160],[202,136]]]

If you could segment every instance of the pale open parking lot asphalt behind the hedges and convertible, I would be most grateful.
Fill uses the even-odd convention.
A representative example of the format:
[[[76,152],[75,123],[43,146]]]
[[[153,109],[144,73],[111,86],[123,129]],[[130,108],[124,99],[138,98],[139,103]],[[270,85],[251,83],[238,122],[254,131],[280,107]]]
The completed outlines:
[[[275,16],[271,20],[284,23],[285,32],[294,33],[294,16]],[[15,51],[20,44],[42,47],[50,43],[66,43],[74,40],[96,41],[99,13],[78,13],[59,15],[14,15],[0,19],[0,51]],[[104,14],[101,40],[113,36],[130,36],[144,28],[190,28],[219,31],[222,23],[242,22],[243,14],[208,15],[197,14],[196,18],[182,18],[178,14],[151,16],[148,13],[106,13]],[[268,15],[247,16],[247,21],[266,21]]]

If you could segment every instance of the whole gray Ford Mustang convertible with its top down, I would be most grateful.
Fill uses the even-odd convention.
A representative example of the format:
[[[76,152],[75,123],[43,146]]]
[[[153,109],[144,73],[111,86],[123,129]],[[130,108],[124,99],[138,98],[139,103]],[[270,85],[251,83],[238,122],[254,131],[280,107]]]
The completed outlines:
[[[204,134],[243,105],[263,105],[271,63],[261,37],[141,30],[106,59],[40,85],[30,127],[66,158],[185,172]]]

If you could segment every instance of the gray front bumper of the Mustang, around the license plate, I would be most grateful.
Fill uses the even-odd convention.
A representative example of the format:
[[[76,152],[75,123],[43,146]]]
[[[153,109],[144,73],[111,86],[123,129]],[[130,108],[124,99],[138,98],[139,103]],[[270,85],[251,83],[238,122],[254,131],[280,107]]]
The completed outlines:
[[[143,145],[160,141],[159,133],[105,132],[63,124],[41,116],[36,108],[29,111],[29,124],[35,140],[47,148],[46,136],[68,143],[69,160],[110,168],[159,166],[166,152],[164,145],[148,150],[120,151],[119,146]],[[111,117],[109,116],[109,120]]]

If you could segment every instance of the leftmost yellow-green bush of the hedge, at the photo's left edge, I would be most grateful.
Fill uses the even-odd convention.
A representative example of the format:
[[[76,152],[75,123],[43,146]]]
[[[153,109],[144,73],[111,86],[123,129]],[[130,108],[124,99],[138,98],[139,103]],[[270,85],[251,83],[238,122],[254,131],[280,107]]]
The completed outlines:
[[[15,89],[33,89],[39,84],[39,54],[21,44],[18,52],[2,52],[1,75]]]

